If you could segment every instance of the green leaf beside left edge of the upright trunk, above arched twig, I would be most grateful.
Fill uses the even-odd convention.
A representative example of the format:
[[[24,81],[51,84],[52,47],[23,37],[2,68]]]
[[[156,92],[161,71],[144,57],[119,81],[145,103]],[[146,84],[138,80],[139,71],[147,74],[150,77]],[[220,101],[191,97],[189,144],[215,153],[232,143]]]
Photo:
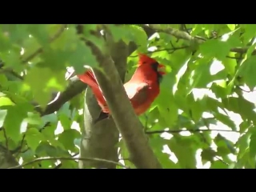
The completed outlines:
[[[58,142],[61,142],[66,150],[74,150],[74,139],[80,138],[80,133],[77,130],[64,130],[58,136]]]

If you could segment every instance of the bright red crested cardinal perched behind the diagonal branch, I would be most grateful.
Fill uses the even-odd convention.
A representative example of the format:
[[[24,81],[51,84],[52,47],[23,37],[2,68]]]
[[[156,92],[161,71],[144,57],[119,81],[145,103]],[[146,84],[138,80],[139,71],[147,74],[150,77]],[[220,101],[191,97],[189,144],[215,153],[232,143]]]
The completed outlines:
[[[130,81],[124,84],[126,94],[137,115],[146,112],[151,103],[154,102],[154,99],[158,97],[160,92],[159,83],[162,80],[162,75],[166,74],[161,71],[163,67],[163,65],[146,54],[139,54],[138,68]],[[102,113],[95,122],[109,117],[110,110],[106,105],[106,99],[103,97],[92,71],[87,70],[84,74],[79,74],[78,78],[90,86],[98,105],[102,108]]]

